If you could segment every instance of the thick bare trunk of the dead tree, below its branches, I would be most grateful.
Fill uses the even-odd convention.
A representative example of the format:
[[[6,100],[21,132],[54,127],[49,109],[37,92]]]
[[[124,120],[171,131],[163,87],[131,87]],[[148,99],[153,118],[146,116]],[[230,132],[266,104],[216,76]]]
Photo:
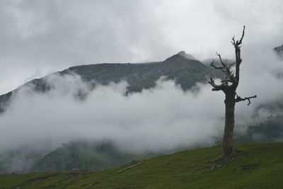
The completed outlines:
[[[235,92],[229,91],[225,98],[225,129],[223,137],[223,157],[231,158],[233,151],[233,129],[235,125]]]

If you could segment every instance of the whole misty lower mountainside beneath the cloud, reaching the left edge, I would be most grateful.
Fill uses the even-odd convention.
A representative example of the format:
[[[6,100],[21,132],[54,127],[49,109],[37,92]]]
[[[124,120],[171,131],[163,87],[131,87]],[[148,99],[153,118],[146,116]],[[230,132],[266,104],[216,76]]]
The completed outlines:
[[[163,154],[171,151],[163,151]],[[0,175],[88,169],[101,171],[157,155],[119,150],[114,142],[74,140],[57,149],[10,149],[0,153]]]

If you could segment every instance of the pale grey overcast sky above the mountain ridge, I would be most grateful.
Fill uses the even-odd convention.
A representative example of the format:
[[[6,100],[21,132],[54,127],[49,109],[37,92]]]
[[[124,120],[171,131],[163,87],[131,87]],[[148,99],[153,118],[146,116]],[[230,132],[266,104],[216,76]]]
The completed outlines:
[[[163,60],[185,50],[199,59],[282,45],[282,0],[2,0],[0,93],[79,64]]]

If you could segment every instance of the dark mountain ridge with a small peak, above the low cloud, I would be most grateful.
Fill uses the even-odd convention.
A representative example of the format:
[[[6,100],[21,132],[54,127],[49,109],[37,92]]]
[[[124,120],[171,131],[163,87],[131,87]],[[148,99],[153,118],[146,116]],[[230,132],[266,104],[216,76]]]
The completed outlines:
[[[166,76],[167,79],[174,79],[175,83],[180,84],[184,91],[190,89],[197,82],[207,82],[210,77],[221,77],[220,71],[207,67],[202,62],[192,58],[192,55],[179,52],[162,62],[89,64],[70,67],[54,74],[64,75],[74,72],[79,74],[84,81],[96,81],[96,83],[102,85],[125,80],[129,84],[127,88],[129,93],[139,92],[143,88],[154,87],[156,81],[161,76]],[[45,80],[46,77],[33,79],[23,86],[34,86],[35,91],[48,91],[50,90],[50,86]],[[91,82],[91,84],[93,86],[96,85],[94,82]],[[13,94],[18,89],[0,96],[0,113],[8,107]]]

